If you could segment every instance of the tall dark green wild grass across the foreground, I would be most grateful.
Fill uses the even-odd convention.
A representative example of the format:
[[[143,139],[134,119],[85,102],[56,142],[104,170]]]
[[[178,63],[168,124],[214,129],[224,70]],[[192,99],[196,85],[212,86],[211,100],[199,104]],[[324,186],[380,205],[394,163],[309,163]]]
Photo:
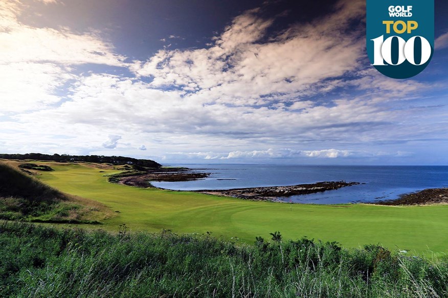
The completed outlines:
[[[279,236],[279,235],[277,235]],[[281,237],[0,227],[2,297],[444,297],[448,262]]]

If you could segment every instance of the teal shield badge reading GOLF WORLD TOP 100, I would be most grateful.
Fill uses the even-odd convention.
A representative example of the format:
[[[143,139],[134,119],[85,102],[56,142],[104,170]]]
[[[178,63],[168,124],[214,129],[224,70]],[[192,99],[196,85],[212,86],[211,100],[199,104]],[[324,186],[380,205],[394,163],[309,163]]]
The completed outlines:
[[[416,76],[434,53],[434,0],[367,0],[366,45],[385,76]]]

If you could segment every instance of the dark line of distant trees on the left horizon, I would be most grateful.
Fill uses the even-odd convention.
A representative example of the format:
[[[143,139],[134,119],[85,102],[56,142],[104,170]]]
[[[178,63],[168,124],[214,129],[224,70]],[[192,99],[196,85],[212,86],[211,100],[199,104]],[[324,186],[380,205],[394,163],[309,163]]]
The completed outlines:
[[[17,160],[44,160],[57,162],[96,162],[96,163],[111,163],[116,165],[129,164],[134,166],[142,166],[148,168],[160,168],[162,165],[150,159],[136,159],[123,156],[104,156],[104,155],[68,155],[68,154],[41,154],[41,153],[27,153],[27,154],[0,154],[0,159],[17,159]]]

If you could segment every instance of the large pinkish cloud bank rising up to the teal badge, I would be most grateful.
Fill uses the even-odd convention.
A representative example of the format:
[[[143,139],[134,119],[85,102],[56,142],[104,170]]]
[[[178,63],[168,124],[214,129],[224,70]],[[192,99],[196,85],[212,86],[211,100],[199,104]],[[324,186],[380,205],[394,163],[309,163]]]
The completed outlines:
[[[341,2],[329,17],[274,36],[266,35],[273,20],[250,10],[234,18],[213,46],[164,49],[132,70],[154,77],[154,88],[175,86],[210,101],[262,104],[272,93],[290,95],[291,101],[310,84],[356,69],[364,58],[364,33],[347,31],[350,21],[364,18],[364,7],[362,1]]]

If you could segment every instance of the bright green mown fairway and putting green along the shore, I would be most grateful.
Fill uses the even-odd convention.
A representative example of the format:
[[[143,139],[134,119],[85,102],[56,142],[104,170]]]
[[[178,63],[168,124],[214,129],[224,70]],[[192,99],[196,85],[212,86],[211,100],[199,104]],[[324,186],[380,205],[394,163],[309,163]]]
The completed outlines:
[[[91,198],[117,212],[101,228],[206,233],[253,242],[280,231],[284,239],[306,235],[346,247],[382,244],[389,249],[448,253],[448,206],[299,205],[252,202],[193,192],[139,189],[107,182],[114,169],[45,163],[40,179],[66,193]],[[103,171],[103,172],[100,172]],[[291,207],[292,206],[292,207]],[[428,253],[428,252],[427,252]]]

